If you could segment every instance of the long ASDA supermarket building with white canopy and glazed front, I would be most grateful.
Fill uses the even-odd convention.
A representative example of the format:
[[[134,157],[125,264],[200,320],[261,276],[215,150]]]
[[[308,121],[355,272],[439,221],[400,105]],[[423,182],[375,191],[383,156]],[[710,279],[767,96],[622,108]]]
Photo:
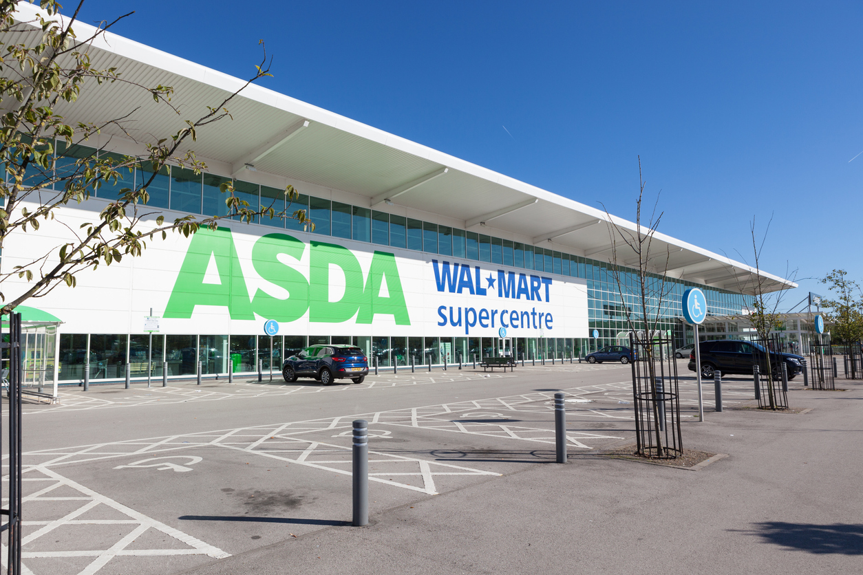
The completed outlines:
[[[76,26],[79,37],[85,28]],[[184,117],[203,115],[243,84],[115,34],[90,53],[94,66],[117,66],[124,78],[173,86]],[[175,133],[183,121],[127,84],[93,84],[59,108],[72,124],[138,108],[126,126],[137,143],[108,127],[65,150],[75,157],[143,155],[151,134]],[[172,378],[195,373],[198,361],[207,374],[254,372],[257,359],[268,369],[271,346],[278,369],[287,353],[314,344],[358,345],[380,366],[408,366],[411,358],[439,364],[473,354],[579,357],[627,340],[622,306],[638,306],[634,294],[621,301],[602,210],[257,85],[229,108],[232,120],[199,129],[190,144],[208,169],[163,170],[148,188],[148,209],[169,221],[224,214],[219,184],[232,181],[252,207],[307,209],[313,232],[292,219],[263,218],[228,220],[188,238],[169,234],[148,242],[140,258],[81,273],[77,287],[29,300],[42,320],[61,322],[34,322],[41,339],[30,359],[41,377],[77,384],[89,366],[91,381],[110,380],[123,378],[127,364],[133,378],[146,377],[150,309],[161,317],[152,338],[155,377],[163,362]],[[59,221],[38,233],[10,237],[3,265],[27,263],[69,241],[69,230],[98,219],[119,188],[149,175],[139,169],[61,209]],[[290,206],[287,184],[300,192]],[[635,229],[618,217],[614,223]],[[623,284],[633,286],[637,276],[626,266],[637,256],[616,243]],[[652,249],[664,254],[664,267],[666,248],[672,288],[662,328],[676,344],[692,337],[680,313],[688,287],[704,291],[710,315],[738,314],[751,303],[753,268],[656,234]],[[794,285],[760,277],[770,290]],[[7,281],[7,298],[22,291],[16,281],[13,289]],[[267,320],[279,322],[273,338],[264,334]]]

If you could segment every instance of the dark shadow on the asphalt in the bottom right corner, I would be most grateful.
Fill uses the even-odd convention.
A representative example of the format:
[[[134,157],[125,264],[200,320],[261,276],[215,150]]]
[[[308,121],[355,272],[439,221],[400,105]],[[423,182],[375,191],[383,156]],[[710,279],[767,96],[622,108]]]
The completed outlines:
[[[773,543],[799,551],[841,555],[863,555],[863,524],[762,522],[746,533],[759,535],[765,543]]]

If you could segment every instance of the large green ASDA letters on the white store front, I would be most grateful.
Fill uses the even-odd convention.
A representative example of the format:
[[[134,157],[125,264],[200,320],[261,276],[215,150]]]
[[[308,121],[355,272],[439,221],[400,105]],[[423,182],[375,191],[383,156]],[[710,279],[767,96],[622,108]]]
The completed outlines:
[[[297,269],[306,248],[310,250],[308,280]],[[217,281],[205,278],[211,261]],[[232,320],[255,320],[257,314],[293,322],[308,311],[310,322],[347,322],[356,316],[356,323],[371,323],[375,316],[384,315],[393,316],[396,325],[411,325],[393,253],[375,252],[363,277],[359,260],[346,247],[322,241],[306,245],[287,234],[267,234],[252,247],[252,265],[261,278],[287,291],[287,297],[275,297],[260,288],[249,294],[230,229],[198,231],[183,259],[165,317],[190,319],[196,305],[213,305],[227,308]],[[341,269],[345,281],[343,296],[335,302],[329,301],[331,266]],[[386,295],[381,297],[384,283]]]

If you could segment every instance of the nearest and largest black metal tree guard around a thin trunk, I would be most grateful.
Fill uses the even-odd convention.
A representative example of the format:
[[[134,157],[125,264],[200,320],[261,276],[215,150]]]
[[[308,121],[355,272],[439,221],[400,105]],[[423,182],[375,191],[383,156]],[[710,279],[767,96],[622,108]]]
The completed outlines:
[[[637,451],[644,457],[677,459],[683,455],[680,435],[680,395],[677,387],[677,361],[671,353],[670,339],[639,339],[629,335],[635,359],[633,403]]]

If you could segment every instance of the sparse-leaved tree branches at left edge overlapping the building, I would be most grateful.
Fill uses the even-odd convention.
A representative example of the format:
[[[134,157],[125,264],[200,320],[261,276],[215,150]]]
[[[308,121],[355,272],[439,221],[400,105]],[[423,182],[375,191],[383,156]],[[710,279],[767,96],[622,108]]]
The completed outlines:
[[[12,270],[0,268],[0,299],[3,313],[9,313],[30,297],[42,297],[57,285],[76,284],[76,273],[110,266],[123,257],[140,256],[147,242],[167,238],[168,232],[188,236],[201,227],[215,229],[225,218],[238,218],[251,222],[255,216],[293,217],[312,226],[303,209],[274,209],[249,206],[234,194],[233,185],[222,184],[227,213],[224,216],[183,216],[166,222],[161,210],[148,208],[148,186],[165,166],[192,169],[199,174],[206,169],[203,161],[187,149],[196,141],[198,130],[214,122],[232,119],[228,104],[249,84],[270,76],[270,62],[264,51],[255,74],[240,89],[224,97],[221,102],[207,106],[198,116],[184,119],[184,126],[174,134],[154,137],[152,141],[139,141],[147,150],[141,156],[104,153],[76,154],[81,142],[110,127],[118,128],[129,140],[135,138],[126,130],[134,119],[136,109],[114,117],[107,122],[67,122],[58,113],[58,105],[74,104],[87,85],[98,90],[103,84],[124,83],[153,97],[156,103],[166,106],[180,116],[180,109],[172,103],[173,88],[158,84],[145,86],[123,77],[115,67],[99,69],[91,64],[91,46],[117,22],[131,15],[120,16],[113,22],[102,22],[93,33],[79,40],[72,26],[77,21],[80,2],[71,17],[61,17],[60,4],[54,0],[41,0],[41,12],[31,22],[16,22],[16,13],[23,0],[0,0],[0,162],[6,173],[0,181],[0,249],[9,234],[37,233],[41,222],[54,220],[58,210],[66,205],[82,203],[104,185],[122,181],[123,172],[135,167],[148,166],[148,178],[131,188],[123,188],[118,196],[104,205],[98,221],[85,223],[72,230],[74,240],[54,247],[47,253],[33,254],[32,261],[15,266]],[[36,31],[37,40],[27,32]],[[22,32],[25,34],[15,34]],[[261,45],[262,45],[261,41]],[[94,85],[95,84],[95,85]],[[56,142],[56,145],[55,145]],[[78,146],[80,149],[80,147]],[[78,157],[83,155],[84,157]],[[299,197],[293,186],[285,189],[290,201]],[[153,220],[155,225],[153,225]],[[3,296],[3,282],[10,277],[25,278],[28,288],[8,302]]]

